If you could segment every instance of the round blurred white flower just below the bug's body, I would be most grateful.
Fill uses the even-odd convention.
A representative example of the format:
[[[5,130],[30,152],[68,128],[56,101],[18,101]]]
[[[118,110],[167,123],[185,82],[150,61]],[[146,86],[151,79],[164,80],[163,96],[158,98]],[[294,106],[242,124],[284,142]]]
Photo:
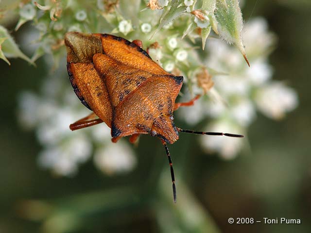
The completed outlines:
[[[137,159],[131,147],[121,140],[117,143],[107,143],[97,149],[94,163],[104,173],[112,175],[132,170],[137,164]]]

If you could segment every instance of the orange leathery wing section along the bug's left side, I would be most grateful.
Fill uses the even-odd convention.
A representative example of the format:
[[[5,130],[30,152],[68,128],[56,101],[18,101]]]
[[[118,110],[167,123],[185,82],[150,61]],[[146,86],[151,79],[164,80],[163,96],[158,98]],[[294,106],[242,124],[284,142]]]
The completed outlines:
[[[112,121],[112,107],[103,79],[100,78],[93,64],[70,63],[69,70],[81,95],[91,110],[109,127]]]

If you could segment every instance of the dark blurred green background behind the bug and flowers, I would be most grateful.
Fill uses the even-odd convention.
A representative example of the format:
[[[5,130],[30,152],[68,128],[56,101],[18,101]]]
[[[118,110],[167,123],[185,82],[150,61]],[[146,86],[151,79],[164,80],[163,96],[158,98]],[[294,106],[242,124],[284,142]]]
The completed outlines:
[[[141,137],[135,149],[138,166],[126,175],[104,176],[91,161],[74,178],[41,170],[35,133],[17,123],[17,95],[38,90],[48,70],[40,60],[36,68],[20,59],[11,60],[10,67],[0,61],[0,232],[154,233],[172,232],[174,226],[179,232],[311,232],[311,3],[245,1],[245,23],[255,16],[265,17],[278,36],[270,56],[274,79],[294,87],[299,108],[278,122],[259,115],[248,133],[251,152],[233,161],[206,156],[199,136],[182,135],[170,147],[179,190],[175,205],[167,159],[152,137]],[[159,188],[162,179],[165,185]],[[163,195],[167,201],[159,202]],[[299,218],[302,223],[230,225],[229,217]],[[202,227],[193,227],[197,222]]]

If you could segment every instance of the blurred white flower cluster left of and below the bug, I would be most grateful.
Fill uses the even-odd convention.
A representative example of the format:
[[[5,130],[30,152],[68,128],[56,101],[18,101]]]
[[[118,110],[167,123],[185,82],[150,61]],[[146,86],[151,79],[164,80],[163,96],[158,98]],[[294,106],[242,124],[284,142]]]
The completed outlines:
[[[56,76],[56,75],[55,75]],[[35,128],[44,149],[38,163],[57,175],[74,175],[78,166],[94,154],[95,165],[105,174],[126,172],[136,165],[132,148],[121,140],[111,145],[110,129],[104,124],[71,132],[69,124],[90,114],[81,107],[72,88],[66,85],[66,70],[45,79],[41,92],[23,92],[19,96],[19,122]]]

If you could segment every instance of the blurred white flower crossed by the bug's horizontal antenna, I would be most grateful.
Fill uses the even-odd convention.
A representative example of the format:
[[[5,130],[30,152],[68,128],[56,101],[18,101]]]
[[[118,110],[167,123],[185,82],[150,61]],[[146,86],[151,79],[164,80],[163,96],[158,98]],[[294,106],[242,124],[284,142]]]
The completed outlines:
[[[206,132],[221,132],[221,133],[242,133],[236,124],[222,120],[211,123],[205,128]],[[237,153],[242,149],[243,138],[227,137],[227,136],[214,136],[202,135],[200,142],[204,150],[209,152],[218,152],[224,159],[233,159]]]

